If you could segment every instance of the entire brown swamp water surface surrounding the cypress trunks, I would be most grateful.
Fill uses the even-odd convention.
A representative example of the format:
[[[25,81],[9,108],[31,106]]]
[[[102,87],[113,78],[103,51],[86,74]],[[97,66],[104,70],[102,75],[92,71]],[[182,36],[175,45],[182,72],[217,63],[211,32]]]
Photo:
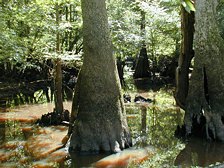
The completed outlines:
[[[224,163],[224,144],[197,139],[183,143],[173,136],[176,125],[183,119],[183,113],[172,105],[173,100],[167,101],[166,95],[160,92],[141,94],[163,103],[126,104],[134,148],[110,156],[71,154],[68,158],[68,152],[61,144],[67,127],[34,124],[42,114],[52,111],[54,104],[1,109],[0,168],[126,167],[130,162],[134,162],[135,167],[140,164],[142,167],[204,167]],[[71,109],[71,102],[64,106]],[[143,162],[145,160],[150,161]]]

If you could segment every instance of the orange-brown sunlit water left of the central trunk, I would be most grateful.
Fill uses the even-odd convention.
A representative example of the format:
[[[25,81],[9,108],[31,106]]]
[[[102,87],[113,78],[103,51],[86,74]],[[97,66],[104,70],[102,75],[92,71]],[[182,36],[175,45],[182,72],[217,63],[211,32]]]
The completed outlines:
[[[54,104],[22,105],[0,111],[0,167],[66,167],[61,139],[67,127],[38,127],[33,122]],[[65,103],[71,108],[71,102]],[[68,166],[67,166],[68,167]]]

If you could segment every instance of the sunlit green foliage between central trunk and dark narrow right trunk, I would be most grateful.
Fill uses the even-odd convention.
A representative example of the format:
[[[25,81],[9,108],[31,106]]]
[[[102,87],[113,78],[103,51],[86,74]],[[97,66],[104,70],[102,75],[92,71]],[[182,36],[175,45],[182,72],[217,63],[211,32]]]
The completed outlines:
[[[135,57],[143,40],[151,60],[176,53],[180,41],[177,1],[108,0],[107,6],[116,56]],[[141,11],[146,16],[145,37],[140,30]]]

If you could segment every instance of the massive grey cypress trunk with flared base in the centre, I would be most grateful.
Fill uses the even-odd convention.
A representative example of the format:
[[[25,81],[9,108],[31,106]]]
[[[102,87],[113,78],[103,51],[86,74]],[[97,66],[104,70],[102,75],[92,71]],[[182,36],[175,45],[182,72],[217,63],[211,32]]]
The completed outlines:
[[[70,148],[117,152],[131,145],[112,55],[105,0],[82,0],[84,60],[73,98]]]

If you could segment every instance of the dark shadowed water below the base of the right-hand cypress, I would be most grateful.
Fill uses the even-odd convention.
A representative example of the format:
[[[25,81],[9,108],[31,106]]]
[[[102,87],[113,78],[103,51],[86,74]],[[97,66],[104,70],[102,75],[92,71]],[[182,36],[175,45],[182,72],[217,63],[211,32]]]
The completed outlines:
[[[223,143],[209,143],[201,139],[192,138],[176,157],[175,165],[207,167],[217,162],[222,163],[224,161],[223,149]]]

